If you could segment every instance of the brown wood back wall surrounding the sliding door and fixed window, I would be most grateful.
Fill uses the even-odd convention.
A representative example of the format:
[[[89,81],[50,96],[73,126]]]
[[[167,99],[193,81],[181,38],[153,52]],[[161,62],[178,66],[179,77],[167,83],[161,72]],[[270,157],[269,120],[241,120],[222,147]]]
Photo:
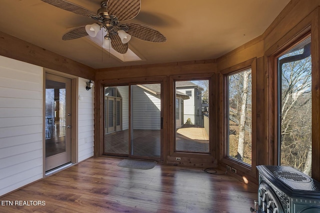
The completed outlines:
[[[96,91],[95,94],[100,93],[102,85],[123,85],[134,82],[162,82],[163,85],[163,161],[167,164],[176,164],[175,157],[180,157],[180,165],[194,165],[194,166],[210,166],[216,162],[215,146],[211,146],[213,152],[210,155],[173,153],[174,144],[174,112],[173,99],[174,93],[173,80],[190,80],[197,78],[212,79],[211,76],[217,72],[215,60],[202,61],[185,61],[166,64],[152,64],[142,66],[116,67],[99,69],[96,72]],[[215,85],[215,84],[213,84]],[[214,88],[213,86],[212,88]],[[212,97],[214,93],[212,93]],[[214,103],[214,101],[213,101]],[[213,104],[214,105],[214,104]],[[216,105],[216,107],[218,107]],[[172,109],[171,109],[172,108]],[[217,109],[215,110],[217,111]],[[96,117],[97,125],[95,128],[95,155],[101,155],[101,141],[102,141],[102,100],[97,95],[96,98]],[[212,111],[213,112],[213,111]],[[214,120],[215,121],[215,120]],[[214,122],[212,120],[212,122]],[[213,124],[211,124],[212,126]],[[211,133],[210,133],[211,134]],[[213,134],[213,132],[212,132]],[[213,134],[216,135],[216,134]]]

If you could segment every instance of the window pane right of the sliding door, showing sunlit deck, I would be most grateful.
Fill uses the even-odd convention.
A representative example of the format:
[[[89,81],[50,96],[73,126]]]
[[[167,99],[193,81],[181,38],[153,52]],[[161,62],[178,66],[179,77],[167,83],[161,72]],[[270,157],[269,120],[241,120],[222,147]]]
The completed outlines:
[[[209,80],[175,82],[176,151],[209,152],[208,94]]]

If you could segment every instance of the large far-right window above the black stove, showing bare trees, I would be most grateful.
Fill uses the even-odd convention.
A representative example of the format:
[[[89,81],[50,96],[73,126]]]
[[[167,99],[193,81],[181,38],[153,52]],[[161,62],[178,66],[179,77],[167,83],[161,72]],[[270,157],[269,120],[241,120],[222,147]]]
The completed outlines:
[[[277,58],[278,164],[311,175],[311,38]]]

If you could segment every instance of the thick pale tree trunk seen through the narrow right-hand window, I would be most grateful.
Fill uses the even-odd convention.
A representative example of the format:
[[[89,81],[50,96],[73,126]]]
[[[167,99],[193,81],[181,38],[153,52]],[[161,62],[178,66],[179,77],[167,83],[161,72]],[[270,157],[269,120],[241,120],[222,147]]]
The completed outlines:
[[[241,116],[239,122],[239,140],[238,140],[238,153],[237,158],[243,161],[244,152],[244,134],[245,134],[245,120],[246,120],[246,102],[248,96],[248,83],[250,71],[243,72],[243,92],[241,98]]]

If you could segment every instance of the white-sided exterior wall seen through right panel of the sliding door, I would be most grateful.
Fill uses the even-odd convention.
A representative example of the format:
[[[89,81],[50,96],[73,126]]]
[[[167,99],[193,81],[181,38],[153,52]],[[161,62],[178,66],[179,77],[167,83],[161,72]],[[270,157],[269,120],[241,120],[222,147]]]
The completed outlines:
[[[159,130],[161,100],[138,86],[133,86],[133,129]]]

